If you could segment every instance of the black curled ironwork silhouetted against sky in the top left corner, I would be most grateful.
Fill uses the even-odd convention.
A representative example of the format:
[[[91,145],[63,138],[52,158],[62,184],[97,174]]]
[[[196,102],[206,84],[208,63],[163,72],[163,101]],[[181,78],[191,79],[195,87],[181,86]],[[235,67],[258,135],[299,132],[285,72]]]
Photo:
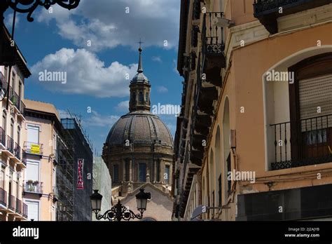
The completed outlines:
[[[7,0],[8,6],[19,13],[28,13],[27,20],[33,22],[32,13],[38,6],[49,9],[54,4],[59,4],[68,10],[74,9],[80,4],[81,0]]]

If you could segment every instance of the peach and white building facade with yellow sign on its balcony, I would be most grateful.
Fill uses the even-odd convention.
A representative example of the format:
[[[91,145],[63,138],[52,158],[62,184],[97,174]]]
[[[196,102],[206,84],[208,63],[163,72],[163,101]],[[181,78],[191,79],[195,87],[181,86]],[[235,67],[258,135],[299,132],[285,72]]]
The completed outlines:
[[[25,100],[24,202],[29,219],[73,219],[74,150],[53,104]],[[71,139],[71,137],[69,137]],[[73,158],[73,159],[72,159]]]

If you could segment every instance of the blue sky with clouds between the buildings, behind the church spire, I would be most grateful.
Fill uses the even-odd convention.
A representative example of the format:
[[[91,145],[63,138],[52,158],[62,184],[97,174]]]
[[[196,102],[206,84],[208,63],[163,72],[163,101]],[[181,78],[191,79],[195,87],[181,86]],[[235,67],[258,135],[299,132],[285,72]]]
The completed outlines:
[[[128,111],[130,81],[125,74],[130,79],[136,74],[140,38],[152,104],[180,104],[179,9],[178,0],[81,0],[74,11],[39,7],[34,22],[18,13],[15,41],[32,71],[25,81],[25,98],[81,116],[100,153],[111,126]],[[10,30],[11,19],[8,10],[5,22]],[[39,81],[45,69],[67,72],[67,83]],[[176,116],[160,118],[174,135]]]

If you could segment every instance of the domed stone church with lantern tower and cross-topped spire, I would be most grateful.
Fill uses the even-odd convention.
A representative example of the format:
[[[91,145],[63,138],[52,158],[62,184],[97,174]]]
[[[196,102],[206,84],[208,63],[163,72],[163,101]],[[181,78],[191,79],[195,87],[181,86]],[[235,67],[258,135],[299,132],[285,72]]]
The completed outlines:
[[[113,203],[118,199],[135,203],[134,194],[143,187],[152,196],[148,220],[171,220],[173,139],[165,123],[150,111],[151,84],[143,74],[141,51],[137,74],[130,82],[129,113],[111,128],[102,158],[112,178]]]

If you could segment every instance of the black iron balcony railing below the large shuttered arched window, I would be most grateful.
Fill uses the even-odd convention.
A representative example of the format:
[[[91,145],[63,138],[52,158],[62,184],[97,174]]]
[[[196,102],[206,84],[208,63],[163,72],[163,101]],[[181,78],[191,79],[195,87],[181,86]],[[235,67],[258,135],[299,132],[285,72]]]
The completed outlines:
[[[332,162],[332,114],[300,120],[292,135],[296,140],[291,139],[290,122],[271,128],[275,138],[272,170]]]

